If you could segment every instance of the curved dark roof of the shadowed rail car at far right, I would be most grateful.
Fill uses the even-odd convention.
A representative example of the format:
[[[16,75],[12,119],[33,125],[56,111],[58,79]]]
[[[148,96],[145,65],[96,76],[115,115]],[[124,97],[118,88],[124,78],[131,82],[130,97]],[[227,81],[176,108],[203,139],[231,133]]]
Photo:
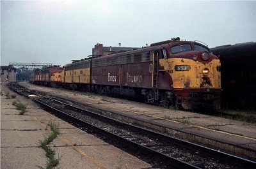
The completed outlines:
[[[214,55],[221,57],[246,57],[249,54],[256,54],[256,42],[238,43],[236,45],[223,45],[220,47],[210,48]]]

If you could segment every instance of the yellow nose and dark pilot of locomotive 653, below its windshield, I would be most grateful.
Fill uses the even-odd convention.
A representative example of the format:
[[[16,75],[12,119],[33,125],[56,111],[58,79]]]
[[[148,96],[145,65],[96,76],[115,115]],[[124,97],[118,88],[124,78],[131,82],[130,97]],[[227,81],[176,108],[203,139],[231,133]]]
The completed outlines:
[[[199,59],[201,53],[194,52],[186,57],[180,54],[179,57],[159,59],[159,65],[162,71],[172,78],[172,89],[183,108],[211,105],[213,108],[220,109],[221,73],[217,71],[220,60],[215,55],[209,54],[209,60],[202,61]],[[188,70],[176,71],[177,65],[189,67]],[[205,68],[209,70],[206,74],[203,73]]]

